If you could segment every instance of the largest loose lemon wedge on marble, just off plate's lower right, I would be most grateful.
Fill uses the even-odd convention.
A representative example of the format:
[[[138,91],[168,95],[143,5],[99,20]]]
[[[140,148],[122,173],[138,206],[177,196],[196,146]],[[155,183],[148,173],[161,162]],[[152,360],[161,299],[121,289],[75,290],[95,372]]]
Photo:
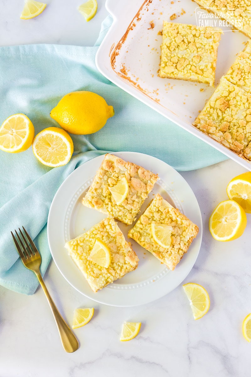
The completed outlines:
[[[183,288],[190,301],[194,319],[203,317],[210,307],[210,299],[205,288],[196,283],[184,284]]]

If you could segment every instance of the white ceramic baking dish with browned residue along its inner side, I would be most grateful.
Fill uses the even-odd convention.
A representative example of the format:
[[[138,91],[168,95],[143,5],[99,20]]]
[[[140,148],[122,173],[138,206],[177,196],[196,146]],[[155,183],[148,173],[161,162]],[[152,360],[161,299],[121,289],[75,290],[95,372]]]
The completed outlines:
[[[176,14],[173,22],[196,25],[196,7],[191,0],[107,0],[106,9],[113,16],[113,24],[97,51],[96,66],[114,84],[251,170],[251,162],[192,125],[214,88],[158,77],[163,20],[170,21],[170,16]],[[215,86],[247,39],[239,31],[224,31],[218,48]]]

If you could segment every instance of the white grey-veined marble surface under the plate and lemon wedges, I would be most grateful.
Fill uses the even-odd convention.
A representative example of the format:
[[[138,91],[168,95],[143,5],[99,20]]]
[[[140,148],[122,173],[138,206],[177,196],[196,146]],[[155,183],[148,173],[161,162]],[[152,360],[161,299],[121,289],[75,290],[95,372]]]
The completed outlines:
[[[23,1],[0,0],[0,45],[94,43],[106,15],[104,1],[98,0],[97,16],[88,24],[76,12],[79,1],[48,3],[40,17],[21,21]],[[140,307],[92,302],[64,280],[52,261],[44,280],[68,323],[77,307],[94,307],[94,317],[75,330],[78,351],[66,354],[41,288],[33,296],[23,296],[0,287],[0,377],[249,376],[250,344],[242,336],[242,320],[251,312],[251,215],[236,241],[214,241],[208,231],[211,211],[227,199],[227,183],[244,171],[228,160],[182,173],[198,199],[204,225],[201,251],[184,282],[197,282],[208,290],[211,307],[205,317],[193,319],[181,285]],[[124,320],[142,322],[131,342],[119,341]]]

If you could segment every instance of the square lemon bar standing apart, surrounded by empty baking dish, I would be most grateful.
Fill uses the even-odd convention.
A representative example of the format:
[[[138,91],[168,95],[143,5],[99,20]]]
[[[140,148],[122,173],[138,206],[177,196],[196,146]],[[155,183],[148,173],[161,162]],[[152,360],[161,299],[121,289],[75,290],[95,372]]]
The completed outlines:
[[[159,76],[213,86],[221,32],[164,21]]]

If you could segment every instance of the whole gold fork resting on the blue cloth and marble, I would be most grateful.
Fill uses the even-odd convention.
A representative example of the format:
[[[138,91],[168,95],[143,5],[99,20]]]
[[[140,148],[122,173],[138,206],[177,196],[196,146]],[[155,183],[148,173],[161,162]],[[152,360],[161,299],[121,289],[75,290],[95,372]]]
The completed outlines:
[[[23,235],[20,228],[18,228],[20,231],[20,234],[23,238],[23,241],[26,246],[24,246],[23,241],[21,240],[20,236],[18,235],[17,231],[15,230],[17,234],[17,239],[15,238],[14,234],[11,232],[12,237],[14,239],[18,254],[21,257],[21,260],[25,267],[29,268],[29,270],[32,270],[38,278],[38,281],[41,284],[41,287],[43,288],[44,294],[46,295],[47,301],[49,302],[50,308],[52,310],[54,319],[56,321],[56,325],[58,327],[59,335],[61,338],[62,345],[66,352],[74,352],[76,349],[79,348],[78,340],[76,339],[75,335],[59,313],[55,303],[53,302],[52,298],[50,297],[50,294],[46,288],[46,285],[44,284],[44,280],[40,273],[40,264],[41,264],[41,256],[38,252],[38,249],[36,248],[35,244],[33,243],[32,239],[30,238],[27,231],[24,229],[24,233],[26,234],[26,237]],[[29,242],[28,242],[28,241]],[[21,245],[21,247],[20,247]]]

